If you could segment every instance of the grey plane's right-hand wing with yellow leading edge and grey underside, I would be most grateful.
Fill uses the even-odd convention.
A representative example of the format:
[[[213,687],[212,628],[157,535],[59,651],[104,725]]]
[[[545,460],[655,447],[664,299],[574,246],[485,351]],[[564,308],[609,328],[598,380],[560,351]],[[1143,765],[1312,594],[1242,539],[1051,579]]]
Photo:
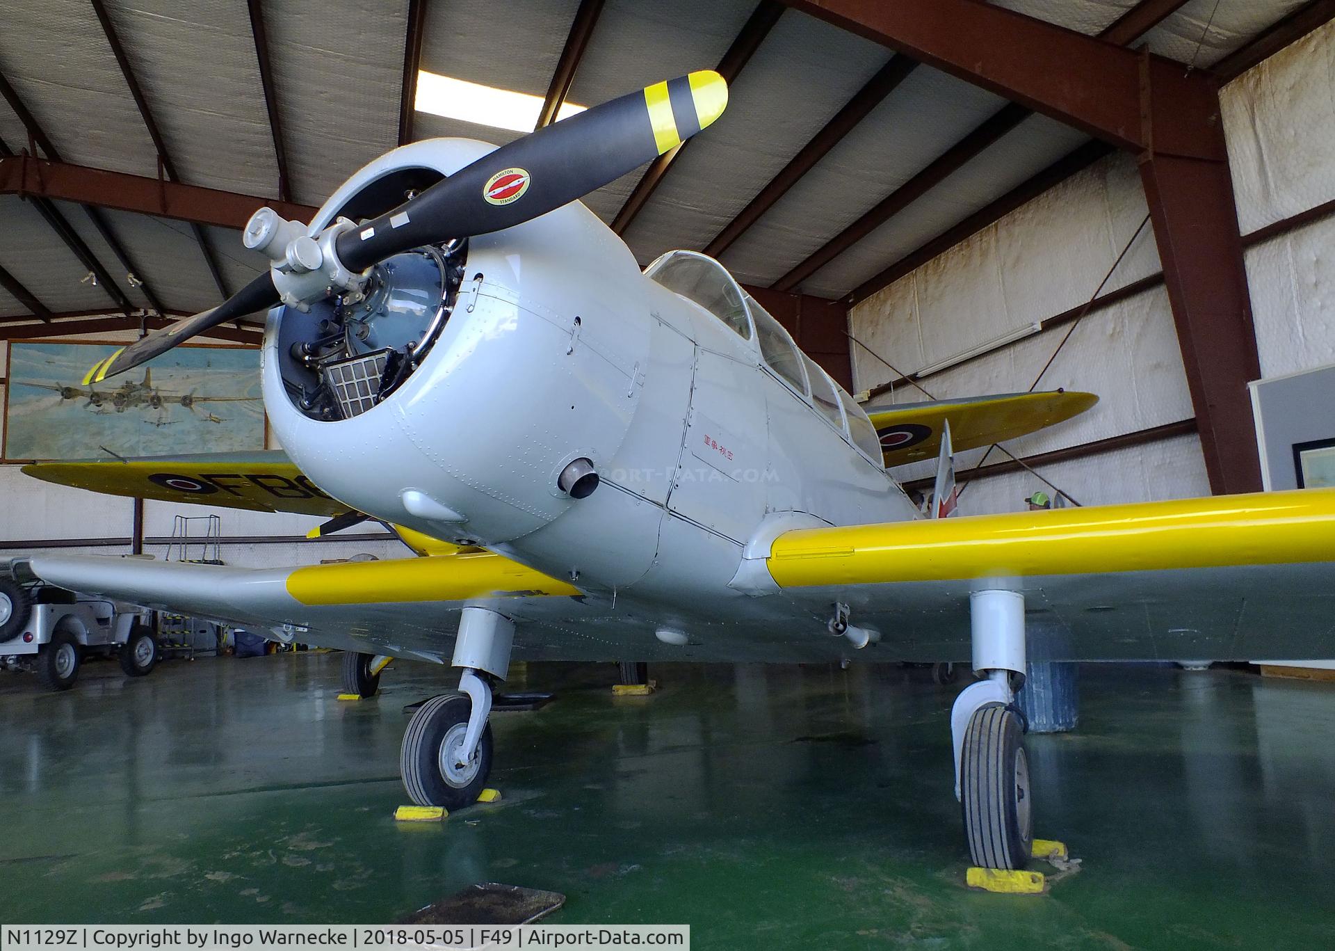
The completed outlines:
[[[1335,490],[802,529],[766,568],[904,660],[968,660],[983,588],[1024,593],[1031,660],[1335,657]]]

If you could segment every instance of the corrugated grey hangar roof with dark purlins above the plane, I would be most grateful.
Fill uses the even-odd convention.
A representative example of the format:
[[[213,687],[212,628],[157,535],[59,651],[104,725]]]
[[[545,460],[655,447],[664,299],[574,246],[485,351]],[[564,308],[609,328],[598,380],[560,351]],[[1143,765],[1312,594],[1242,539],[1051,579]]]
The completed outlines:
[[[1224,77],[1258,37],[1331,7],[996,5]],[[17,0],[5,27],[0,163],[35,150],[256,206],[316,206],[400,140],[521,135],[400,110],[418,67],[549,104],[573,76],[565,98],[591,106],[724,64],[736,73],[728,112],[651,168],[655,187],[637,170],[586,202],[642,263],[708,248],[748,284],[826,298],[865,291],[1064,156],[1093,155],[1083,131],[772,0]],[[766,198],[785,167],[789,187]],[[864,218],[896,192],[893,214]],[[264,266],[234,230],[147,214],[3,194],[0,222],[0,323],[194,313]]]

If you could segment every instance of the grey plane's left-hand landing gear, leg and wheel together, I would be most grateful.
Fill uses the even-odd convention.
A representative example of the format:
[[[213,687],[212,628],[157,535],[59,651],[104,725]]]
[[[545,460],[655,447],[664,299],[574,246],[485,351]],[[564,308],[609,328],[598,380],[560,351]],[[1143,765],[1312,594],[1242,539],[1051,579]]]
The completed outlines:
[[[462,668],[458,693],[422,704],[403,733],[399,772],[418,805],[458,809],[475,803],[491,775],[491,681],[510,667],[514,622],[467,606],[459,618],[453,665]]]

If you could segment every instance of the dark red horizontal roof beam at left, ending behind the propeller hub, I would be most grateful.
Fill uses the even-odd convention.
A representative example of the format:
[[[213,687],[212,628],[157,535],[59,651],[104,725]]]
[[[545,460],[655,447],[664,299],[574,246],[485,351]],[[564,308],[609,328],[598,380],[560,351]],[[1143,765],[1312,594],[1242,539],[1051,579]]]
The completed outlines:
[[[246,227],[255,210],[266,204],[292,220],[308,222],[315,215],[315,207],[310,204],[275,202],[259,195],[45,162],[25,155],[0,158],[0,195],[39,195],[235,230]]]

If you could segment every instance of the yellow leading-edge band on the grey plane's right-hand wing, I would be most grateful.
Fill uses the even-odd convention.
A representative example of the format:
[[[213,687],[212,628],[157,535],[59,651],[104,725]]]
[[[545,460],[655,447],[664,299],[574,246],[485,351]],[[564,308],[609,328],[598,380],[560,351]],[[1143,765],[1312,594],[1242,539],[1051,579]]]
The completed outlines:
[[[801,529],[781,588],[1335,561],[1335,489]]]

